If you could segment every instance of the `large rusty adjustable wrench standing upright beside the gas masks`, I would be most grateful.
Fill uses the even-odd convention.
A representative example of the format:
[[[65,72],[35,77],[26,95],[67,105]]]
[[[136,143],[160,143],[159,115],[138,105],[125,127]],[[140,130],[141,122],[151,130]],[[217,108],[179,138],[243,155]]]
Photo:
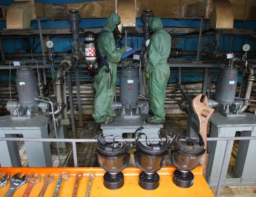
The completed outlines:
[[[207,96],[204,96],[203,103],[201,103],[201,97],[202,94],[199,94],[192,100],[192,107],[195,111],[195,114],[197,114],[198,116],[199,133],[202,135],[204,139],[205,149],[207,149],[207,123],[212,116],[214,109],[209,107]],[[207,161],[208,154],[207,151],[205,151],[205,154],[201,158],[201,166],[203,169],[204,177],[206,175]]]

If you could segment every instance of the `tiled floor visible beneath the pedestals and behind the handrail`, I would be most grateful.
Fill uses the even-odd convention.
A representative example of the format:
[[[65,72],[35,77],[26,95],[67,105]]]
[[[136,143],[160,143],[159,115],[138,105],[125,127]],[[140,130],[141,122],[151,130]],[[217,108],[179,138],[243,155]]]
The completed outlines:
[[[169,134],[171,130],[175,134],[185,135],[186,134],[186,117],[168,117],[166,118],[166,123],[164,124],[164,129]],[[77,124],[78,125],[78,124]],[[72,136],[71,128],[69,128],[69,136]],[[102,130],[100,129],[99,124],[95,124],[93,120],[85,120],[83,127],[76,128],[77,131],[77,137],[80,139],[84,138],[94,138],[96,134],[101,134]],[[96,155],[96,143],[77,143],[77,157],[78,157],[78,166],[79,167],[87,167],[87,166],[99,166],[97,161],[97,155]],[[235,147],[236,148],[236,147]],[[233,149],[235,149],[233,148]],[[26,158],[26,151],[23,146],[23,143],[19,143],[19,149],[20,149],[20,157],[22,161],[23,167],[27,167],[27,158]],[[61,164],[64,163],[66,160],[66,156],[61,156]],[[230,159],[230,166],[229,168],[233,168],[235,156],[233,156]],[[55,167],[58,166],[59,160],[58,156],[52,155],[52,161],[53,165]],[[168,155],[166,159],[165,166],[172,166],[170,154]],[[70,158],[67,162],[67,167],[73,166],[73,159]],[[131,152],[131,160],[128,166],[136,166],[134,162],[134,157]],[[65,167],[65,166],[64,166]],[[216,193],[216,188],[211,188],[212,193]],[[221,195],[220,197],[256,197],[256,187],[242,187],[242,188],[236,188],[236,187],[224,187],[221,189]]]

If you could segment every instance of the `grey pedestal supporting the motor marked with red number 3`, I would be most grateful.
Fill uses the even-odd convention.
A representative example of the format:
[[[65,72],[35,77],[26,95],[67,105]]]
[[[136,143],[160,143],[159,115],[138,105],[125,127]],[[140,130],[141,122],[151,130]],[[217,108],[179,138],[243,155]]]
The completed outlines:
[[[224,117],[219,113],[212,114],[210,119],[210,137],[234,137],[236,131],[241,131],[241,137],[256,136],[256,115],[246,114],[246,117]],[[221,165],[227,141],[208,142],[208,165],[206,180],[210,187],[218,185]],[[233,144],[233,143],[232,143]],[[223,186],[253,186],[256,185],[256,140],[241,140],[233,171],[225,169]],[[230,158],[232,146],[228,157]]]

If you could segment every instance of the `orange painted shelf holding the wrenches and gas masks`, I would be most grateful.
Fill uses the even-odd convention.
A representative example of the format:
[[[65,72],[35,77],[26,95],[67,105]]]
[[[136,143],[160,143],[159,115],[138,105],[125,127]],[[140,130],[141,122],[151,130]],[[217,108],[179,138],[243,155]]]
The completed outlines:
[[[201,173],[201,166],[198,166],[192,171],[195,175],[195,179],[193,186],[190,188],[179,188],[172,182],[175,169],[175,167],[163,167],[158,171],[157,173],[160,175],[160,186],[153,191],[146,191],[140,188],[138,178],[141,170],[137,167],[127,167],[122,171],[125,176],[125,184],[118,190],[105,188],[103,185],[103,174],[105,171],[102,168],[0,168],[0,171],[3,171],[3,174],[9,172],[11,175],[18,172],[22,172],[23,174],[38,173],[41,174],[41,176],[48,173],[54,174],[55,181],[49,185],[44,197],[53,196],[59,174],[63,171],[70,173],[70,178],[62,182],[58,197],[72,197],[76,174],[78,172],[83,173],[83,178],[79,182],[77,197],[85,197],[88,185],[88,174],[91,172],[94,172],[96,177],[92,182],[90,197],[214,197]],[[44,181],[41,178],[41,182],[32,188],[29,197],[38,197],[43,184]],[[27,184],[20,187],[13,197],[22,197],[26,186]],[[1,188],[0,197],[4,197],[8,189],[9,184]]]

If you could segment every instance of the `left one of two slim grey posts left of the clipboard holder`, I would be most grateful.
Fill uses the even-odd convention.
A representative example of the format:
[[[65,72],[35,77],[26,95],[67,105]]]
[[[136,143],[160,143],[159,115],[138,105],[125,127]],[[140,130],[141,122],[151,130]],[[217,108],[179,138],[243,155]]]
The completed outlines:
[[[74,102],[73,102],[71,73],[67,75],[67,85],[68,85],[68,94],[69,94],[69,100],[70,100],[70,117],[71,117],[72,134],[73,134],[73,138],[76,138],[76,123],[75,123],[75,111],[74,111]]]

